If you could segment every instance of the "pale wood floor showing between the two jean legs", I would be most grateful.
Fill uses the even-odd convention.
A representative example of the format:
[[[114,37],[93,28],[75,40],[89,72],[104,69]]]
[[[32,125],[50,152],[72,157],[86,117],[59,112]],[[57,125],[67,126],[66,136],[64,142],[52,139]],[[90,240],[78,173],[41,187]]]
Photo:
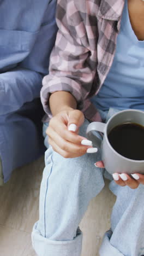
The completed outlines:
[[[80,223],[83,232],[82,256],[99,255],[103,235],[110,228],[110,215],[114,202],[115,196],[109,190],[109,181],[105,180],[105,188],[89,203]]]

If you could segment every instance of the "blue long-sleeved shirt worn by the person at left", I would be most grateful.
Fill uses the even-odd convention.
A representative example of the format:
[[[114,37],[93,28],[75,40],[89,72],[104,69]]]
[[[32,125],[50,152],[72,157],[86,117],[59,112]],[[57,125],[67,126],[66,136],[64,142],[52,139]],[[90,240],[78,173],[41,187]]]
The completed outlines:
[[[0,2],[0,118],[39,97],[57,26],[56,0]]]

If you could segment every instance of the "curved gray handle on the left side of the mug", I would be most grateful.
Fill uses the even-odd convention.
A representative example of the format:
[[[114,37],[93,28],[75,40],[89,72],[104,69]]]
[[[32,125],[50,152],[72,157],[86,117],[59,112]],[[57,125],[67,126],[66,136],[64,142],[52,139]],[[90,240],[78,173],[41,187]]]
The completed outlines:
[[[92,131],[98,131],[98,132],[104,133],[105,127],[106,127],[106,124],[100,123],[100,122],[92,122],[87,126],[86,133],[87,133],[88,139],[95,142],[94,147],[97,147],[97,148],[101,147],[101,139],[100,139],[100,136],[98,137],[98,135],[93,135]]]

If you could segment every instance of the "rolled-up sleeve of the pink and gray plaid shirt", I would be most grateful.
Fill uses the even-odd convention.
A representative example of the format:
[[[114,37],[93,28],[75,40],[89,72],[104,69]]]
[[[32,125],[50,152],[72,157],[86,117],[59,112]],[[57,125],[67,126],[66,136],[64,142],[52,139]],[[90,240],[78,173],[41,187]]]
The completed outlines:
[[[41,102],[49,118],[49,96],[55,91],[68,91],[77,101],[77,108],[83,108],[83,101],[94,95],[93,89],[97,63],[97,15],[89,21],[90,1],[58,0],[58,33],[51,53],[49,74],[43,79]],[[85,6],[84,6],[85,5]],[[91,9],[90,8],[90,9]],[[94,5],[97,13],[97,5]],[[95,23],[95,24],[94,24]],[[95,45],[94,45],[95,44]],[[97,79],[97,78],[96,78]]]

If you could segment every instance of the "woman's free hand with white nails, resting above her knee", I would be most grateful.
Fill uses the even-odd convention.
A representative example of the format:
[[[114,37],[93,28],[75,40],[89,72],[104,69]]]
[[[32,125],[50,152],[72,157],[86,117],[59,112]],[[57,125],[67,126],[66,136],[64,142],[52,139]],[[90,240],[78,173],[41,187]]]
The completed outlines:
[[[83,124],[84,119],[80,110],[71,107],[58,112],[50,120],[49,127],[46,130],[49,136],[49,144],[53,150],[64,158],[76,158],[87,153],[87,149],[92,148],[92,142],[87,140],[83,143],[89,143],[90,146],[82,145],[81,142],[86,138],[78,135],[79,127]]]

